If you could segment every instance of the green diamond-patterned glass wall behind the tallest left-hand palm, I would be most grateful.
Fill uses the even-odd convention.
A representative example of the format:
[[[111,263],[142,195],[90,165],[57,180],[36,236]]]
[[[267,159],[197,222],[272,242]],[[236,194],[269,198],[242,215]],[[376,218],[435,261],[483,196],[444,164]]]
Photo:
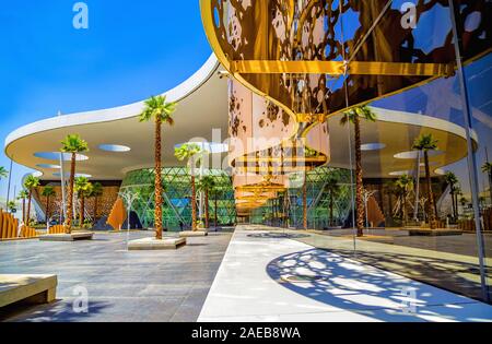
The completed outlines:
[[[220,169],[208,169],[204,176],[213,177],[216,185],[216,216],[218,225],[230,225],[235,222],[234,192],[231,177]],[[198,182],[197,177],[197,182]],[[168,167],[162,169],[163,180],[163,223],[169,230],[178,229],[181,222],[184,227],[191,224],[191,176],[186,167]],[[154,169],[139,169],[127,174],[120,192],[138,193],[132,210],[138,214],[143,227],[154,225]],[[198,204],[198,200],[197,200]],[[214,224],[215,194],[209,200],[210,225]]]

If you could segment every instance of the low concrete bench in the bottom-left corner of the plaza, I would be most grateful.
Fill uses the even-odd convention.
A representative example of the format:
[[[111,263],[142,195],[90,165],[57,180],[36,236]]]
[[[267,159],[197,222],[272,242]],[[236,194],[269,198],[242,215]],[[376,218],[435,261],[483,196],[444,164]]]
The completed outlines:
[[[57,284],[57,275],[0,274],[0,307],[17,301],[51,303]]]

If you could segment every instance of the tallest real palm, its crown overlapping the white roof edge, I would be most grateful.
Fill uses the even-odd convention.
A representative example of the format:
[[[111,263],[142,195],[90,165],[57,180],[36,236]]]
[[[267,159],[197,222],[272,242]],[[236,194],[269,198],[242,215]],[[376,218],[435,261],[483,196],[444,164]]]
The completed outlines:
[[[167,103],[165,96],[152,96],[145,100],[145,108],[139,115],[140,122],[148,122],[154,120],[155,122],[155,138],[154,138],[154,153],[155,153],[155,194],[154,194],[154,223],[155,223],[155,238],[162,239],[162,168],[161,168],[161,134],[162,123],[169,126],[174,124],[173,114],[176,110],[176,103]]]

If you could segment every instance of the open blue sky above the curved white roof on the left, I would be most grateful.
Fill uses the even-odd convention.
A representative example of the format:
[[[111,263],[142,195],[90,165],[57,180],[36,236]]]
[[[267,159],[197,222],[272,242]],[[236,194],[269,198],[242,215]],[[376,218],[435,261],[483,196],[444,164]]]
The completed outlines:
[[[0,138],[35,120],[142,100],[191,75],[210,56],[198,0],[5,1],[0,10]],[[10,161],[0,154],[0,165]],[[15,165],[19,183],[28,169]],[[13,191],[13,187],[11,192]],[[0,181],[0,198],[7,180]]]

